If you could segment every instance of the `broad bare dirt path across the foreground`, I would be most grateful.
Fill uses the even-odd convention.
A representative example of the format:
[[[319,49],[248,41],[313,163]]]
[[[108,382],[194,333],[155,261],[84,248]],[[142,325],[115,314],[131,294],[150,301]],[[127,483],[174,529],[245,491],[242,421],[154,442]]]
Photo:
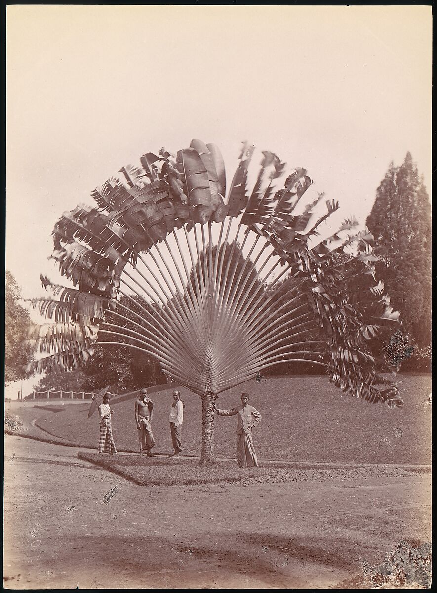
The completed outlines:
[[[4,509],[6,588],[327,588],[430,541],[430,476],[144,488],[7,436]]]

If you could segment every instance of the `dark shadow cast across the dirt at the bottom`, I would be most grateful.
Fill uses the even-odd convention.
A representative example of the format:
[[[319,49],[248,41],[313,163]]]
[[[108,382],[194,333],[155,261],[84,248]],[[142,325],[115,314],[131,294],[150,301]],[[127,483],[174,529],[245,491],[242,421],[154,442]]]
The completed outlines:
[[[87,548],[93,550],[94,560],[99,556],[104,558],[111,572],[131,575],[130,586],[153,588],[214,585],[220,588],[308,588],[313,583],[323,586],[323,579],[332,582],[331,572],[337,575],[358,573],[361,565],[359,557],[350,557],[350,543],[337,542],[333,547],[332,541],[323,537],[211,533],[209,537],[204,534],[203,541],[184,540],[181,541],[180,535],[173,537],[171,534],[149,536],[146,541],[143,537],[111,538],[107,534],[103,539],[87,538]],[[73,549],[76,546],[79,549],[82,541],[72,541],[72,544]],[[91,575],[88,572],[91,566],[84,566],[83,558],[79,564],[83,576]],[[86,577],[85,580],[88,581]]]

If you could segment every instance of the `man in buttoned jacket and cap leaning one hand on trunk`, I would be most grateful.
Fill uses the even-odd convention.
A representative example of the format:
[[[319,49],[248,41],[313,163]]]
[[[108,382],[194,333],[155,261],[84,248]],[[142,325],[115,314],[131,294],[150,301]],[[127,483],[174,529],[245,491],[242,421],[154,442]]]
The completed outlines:
[[[252,428],[261,422],[261,414],[253,406],[249,406],[249,394],[243,393],[241,405],[230,410],[219,410],[214,404],[219,416],[237,415],[237,461],[240,467],[256,467],[255,447],[252,442]]]

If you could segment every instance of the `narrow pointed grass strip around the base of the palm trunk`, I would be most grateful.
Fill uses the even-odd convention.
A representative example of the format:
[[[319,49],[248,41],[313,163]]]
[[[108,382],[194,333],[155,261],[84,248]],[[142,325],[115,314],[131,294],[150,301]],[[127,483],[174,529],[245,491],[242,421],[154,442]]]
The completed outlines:
[[[362,478],[412,476],[412,471],[390,467],[359,467],[301,469],[285,464],[272,467],[266,462],[262,467],[240,468],[236,461],[219,461],[213,466],[200,466],[198,460],[166,457],[140,457],[132,455],[105,455],[79,451],[79,459],[91,461],[140,486],[195,486],[219,483],[283,483],[323,482]]]

